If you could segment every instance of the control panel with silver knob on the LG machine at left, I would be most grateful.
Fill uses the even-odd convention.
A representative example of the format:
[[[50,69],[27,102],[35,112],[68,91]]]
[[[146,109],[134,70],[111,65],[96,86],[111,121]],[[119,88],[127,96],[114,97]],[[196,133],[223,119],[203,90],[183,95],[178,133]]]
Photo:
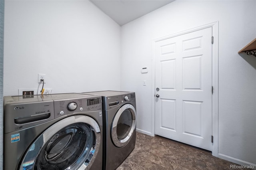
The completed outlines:
[[[101,111],[101,97],[90,97],[80,99],[63,99],[54,101],[55,118],[72,113]]]

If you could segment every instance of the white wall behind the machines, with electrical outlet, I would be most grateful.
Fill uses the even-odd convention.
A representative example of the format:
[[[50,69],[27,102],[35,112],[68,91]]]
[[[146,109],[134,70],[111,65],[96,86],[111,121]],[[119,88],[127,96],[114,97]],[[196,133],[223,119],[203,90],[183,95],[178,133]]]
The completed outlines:
[[[4,96],[38,73],[52,93],[120,90],[120,26],[90,1],[7,0],[4,20]]]

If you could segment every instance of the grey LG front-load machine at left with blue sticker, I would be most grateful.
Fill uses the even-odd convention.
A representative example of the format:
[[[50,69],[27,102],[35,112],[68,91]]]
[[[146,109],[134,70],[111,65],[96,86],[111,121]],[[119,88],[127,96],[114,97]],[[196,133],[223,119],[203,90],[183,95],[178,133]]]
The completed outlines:
[[[102,170],[102,97],[4,97],[5,170]]]

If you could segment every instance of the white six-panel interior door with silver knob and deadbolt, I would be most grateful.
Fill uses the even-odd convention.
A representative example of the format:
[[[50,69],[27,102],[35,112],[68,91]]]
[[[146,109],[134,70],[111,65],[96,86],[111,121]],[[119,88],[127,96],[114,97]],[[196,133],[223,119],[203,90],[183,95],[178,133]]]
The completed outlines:
[[[155,87],[155,134],[212,151],[212,28],[156,42]]]

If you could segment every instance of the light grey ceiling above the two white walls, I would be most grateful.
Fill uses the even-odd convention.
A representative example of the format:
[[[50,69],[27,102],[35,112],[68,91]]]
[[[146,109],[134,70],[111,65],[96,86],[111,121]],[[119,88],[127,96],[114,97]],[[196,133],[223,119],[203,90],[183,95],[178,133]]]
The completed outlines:
[[[90,0],[120,26],[174,0]]]

